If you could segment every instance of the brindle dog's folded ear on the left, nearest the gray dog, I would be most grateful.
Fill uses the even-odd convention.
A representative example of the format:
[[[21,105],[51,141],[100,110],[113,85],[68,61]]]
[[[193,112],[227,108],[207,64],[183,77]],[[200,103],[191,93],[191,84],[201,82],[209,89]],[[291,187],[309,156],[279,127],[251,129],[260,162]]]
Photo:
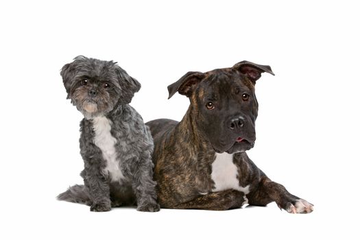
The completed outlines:
[[[169,91],[169,97],[167,99],[170,99],[176,92],[191,97],[195,86],[199,84],[204,77],[205,74],[201,72],[188,72],[183,75],[180,80],[167,86],[167,90]]]

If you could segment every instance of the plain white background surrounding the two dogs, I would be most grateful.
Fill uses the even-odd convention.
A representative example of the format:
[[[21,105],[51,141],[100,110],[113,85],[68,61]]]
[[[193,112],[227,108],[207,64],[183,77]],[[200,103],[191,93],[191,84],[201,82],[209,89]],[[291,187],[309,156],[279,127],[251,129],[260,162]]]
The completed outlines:
[[[1,1],[0,238],[359,239],[359,23],[356,1]],[[82,183],[82,115],[59,75],[77,55],[139,80],[132,106],[145,121],[182,119],[189,101],[167,100],[167,85],[187,71],[269,64],[248,154],[315,211],[91,213],[58,202]]]

